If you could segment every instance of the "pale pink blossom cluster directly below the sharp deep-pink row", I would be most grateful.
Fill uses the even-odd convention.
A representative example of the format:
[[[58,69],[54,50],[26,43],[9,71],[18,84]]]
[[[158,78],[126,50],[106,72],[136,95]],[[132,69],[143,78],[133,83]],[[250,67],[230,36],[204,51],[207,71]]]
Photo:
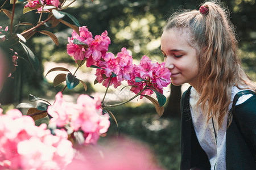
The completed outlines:
[[[77,104],[68,103],[59,92],[55,103],[48,107],[47,112],[53,117],[50,125],[57,128],[71,128],[82,131],[84,144],[96,144],[101,134],[106,133],[110,126],[109,116],[102,115],[100,97],[94,99],[88,95],[80,95]]]

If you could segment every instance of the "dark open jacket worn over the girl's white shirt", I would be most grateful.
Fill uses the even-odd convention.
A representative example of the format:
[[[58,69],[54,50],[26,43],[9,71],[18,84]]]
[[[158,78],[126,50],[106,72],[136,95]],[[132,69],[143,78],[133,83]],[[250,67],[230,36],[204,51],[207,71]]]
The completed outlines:
[[[191,87],[181,98],[181,170],[210,169],[207,154],[201,148],[191,120],[189,97]],[[244,103],[236,105],[244,94],[253,94]],[[226,169],[255,170],[256,162],[256,94],[245,90],[234,97],[233,119],[226,130]],[[229,124],[229,122],[228,122]]]

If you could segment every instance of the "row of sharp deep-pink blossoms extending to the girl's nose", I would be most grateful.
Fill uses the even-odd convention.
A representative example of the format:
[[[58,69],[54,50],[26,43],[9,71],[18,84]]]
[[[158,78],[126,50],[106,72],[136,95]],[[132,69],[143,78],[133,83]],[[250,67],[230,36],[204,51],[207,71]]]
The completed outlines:
[[[93,39],[92,33],[86,26],[79,28],[80,35],[76,31],[72,32],[72,37],[68,37],[67,53],[77,60],[86,58],[86,66],[99,67],[96,70],[96,80],[103,86],[117,88],[121,86],[123,80],[127,80],[131,91],[138,94],[147,85],[142,95],[151,95],[153,90],[163,94],[163,87],[171,83],[170,71],[164,68],[165,63],[152,63],[147,56],[143,56],[139,65],[133,65],[133,57],[122,48],[117,57],[113,53],[106,53],[110,44],[110,39],[105,31],[100,36]],[[135,82],[135,78],[145,81]],[[146,83],[145,83],[146,82]],[[143,96],[141,96],[143,97]]]

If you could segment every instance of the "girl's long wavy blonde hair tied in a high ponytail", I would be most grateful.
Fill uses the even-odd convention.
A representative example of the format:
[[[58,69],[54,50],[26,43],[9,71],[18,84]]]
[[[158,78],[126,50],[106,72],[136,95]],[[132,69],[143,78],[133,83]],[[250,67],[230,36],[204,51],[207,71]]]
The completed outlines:
[[[189,44],[193,48],[197,46],[199,80],[202,82],[197,106],[201,104],[208,121],[216,116],[221,127],[228,113],[232,87],[255,91],[256,86],[241,68],[238,42],[228,10],[217,1],[205,2],[203,6],[209,10],[207,15],[197,10],[177,12],[168,19],[164,30],[189,30]],[[229,113],[229,123],[231,121],[232,114]]]

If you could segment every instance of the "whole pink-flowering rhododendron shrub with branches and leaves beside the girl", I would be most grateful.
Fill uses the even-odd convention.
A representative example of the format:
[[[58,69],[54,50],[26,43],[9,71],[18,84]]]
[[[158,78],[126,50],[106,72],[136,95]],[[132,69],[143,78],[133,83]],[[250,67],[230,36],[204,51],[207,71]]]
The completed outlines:
[[[21,0],[22,1],[22,0]],[[31,103],[20,103],[16,108],[28,108],[27,116],[22,116],[22,113],[17,109],[7,112],[5,115],[0,110],[0,168],[4,169],[65,169],[72,162],[73,150],[77,144],[81,146],[96,145],[101,135],[104,135],[110,126],[109,118],[112,117],[117,124],[114,114],[108,110],[109,107],[125,104],[135,97],[146,97],[155,105],[156,112],[161,116],[163,114],[163,105],[166,103],[166,97],[163,95],[163,87],[171,83],[170,71],[164,67],[165,63],[153,63],[150,58],[143,56],[139,65],[133,64],[133,57],[126,48],[122,48],[117,55],[108,52],[110,38],[108,32],[104,31],[101,35],[96,35],[93,38],[92,32],[86,26],[80,27],[76,18],[67,12],[65,8],[71,5],[76,0],[73,0],[68,5],[64,6],[66,1],[46,0],[46,1],[27,1],[23,8],[23,14],[32,10],[38,10],[40,14],[39,21],[32,23],[19,23],[19,25],[27,25],[31,28],[24,29],[21,33],[15,33],[13,30],[13,16],[15,13],[15,3],[13,1],[13,12],[1,7],[1,11],[11,19],[10,30],[6,27],[4,30],[0,27],[0,42],[10,44],[9,49],[13,52],[10,61],[13,65],[8,70],[15,71],[18,65],[18,58],[27,59],[30,62],[32,69],[36,70],[39,67],[39,60],[34,55],[32,50],[26,45],[27,40],[34,35],[35,32],[42,33],[51,37],[56,45],[59,45],[59,40],[54,33],[46,30],[37,30],[47,22],[51,23],[52,27],[56,27],[59,23],[63,23],[73,29],[71,37],[68,37],[67,53],[75,59],[77,69],[75,73],[71,73],[65,67],[55,67],[48,71],[46,76],[52,71],[64,71],[56,75],[53,80],[53,86],[59,86],[65,83],[63,90],[57,93],[55,102],[49,103],[47,100],[40,97],[29,95],[29,101],[35,102],[36,106]],[[42,15],[47,14],[47,19],[41,20]],[[64,16],[75,24],[65,22]],[[21,45],[26,53],[26,56],[19,56],[14,52],[13,46]],[[0,55],[3,55],[0,51]],[[0,56],[2,57],[2,56]],[[0,58],[1,59],[1,58]],[[86,63],[86,64],[85,64]],[[106,87],[106,91],[102,99],[100,96],[80,95],[77,103],[69,103],[63,99],[62,92],[68,88],[75,88],[79,83],[84,86],[85,91],[87,86],[85,82],[77,78],[77,70],[85,64],[86,67],[96,69],[96,80],[94,83],[102,83]],[[2,65],[1,65],[2,66]],[[2,70],[1,70],[2,71]],[[2,78],[2,73],[0,78]],[[8,76],[8,75],[7,75]],[[11,76],[11,73],[9,74]],[[134,96],[127,101],[108,105],[105,103],[105,96],[108,93],[108,88],[113,86],[117,88],[122,82],[126,81],[126,88],[130,88],[134,92]],[[2,79],[0,79],[2,85]],[[1,88],[0,88],[1,89]],[[156,94],[156,99],[151,97]],[[42,124],[35,126],[36,120],[48,116],[50,118],[49,125]],[[73,145],[72,145],[73,144]],[[135,162],[137,155],[133,158],[136,148],[128,153],[127,160],[130,163]],[[132,152],[131,152],[132,151]],[[145,152],[146,153],[146,152]],[[116,155],[117,153],[113,153]],[[112,154],[112,155],[113,155]],[[90,154],[88,154],[91,157]],[[114,156],[113,156],[114,157]],[[97,166],[95,160],[88,159],[89,167],[92,169],[102,169],[101,164]],[[116,161],[120,162],[119,159]],[[130,169],[142,169],[144,162],[148,160],[141,159],[142,164]],[[75,162],[75,164],[74,164]],[[102,165],[108,165],[105,168],[121,168],[126,166],[116,164],[111,167],[114,160],[110,163],[106,160],[101,160]],[[76,159],[69,167],[75,167]],[[94,166],[93,166],[94,165]],[[149,164],[148,164],[149,165]],[[82,165],[86,167],[85,165]],[[127,165],[128,166],[128,165]],[[148,168],[146,168],[148,169]]]

